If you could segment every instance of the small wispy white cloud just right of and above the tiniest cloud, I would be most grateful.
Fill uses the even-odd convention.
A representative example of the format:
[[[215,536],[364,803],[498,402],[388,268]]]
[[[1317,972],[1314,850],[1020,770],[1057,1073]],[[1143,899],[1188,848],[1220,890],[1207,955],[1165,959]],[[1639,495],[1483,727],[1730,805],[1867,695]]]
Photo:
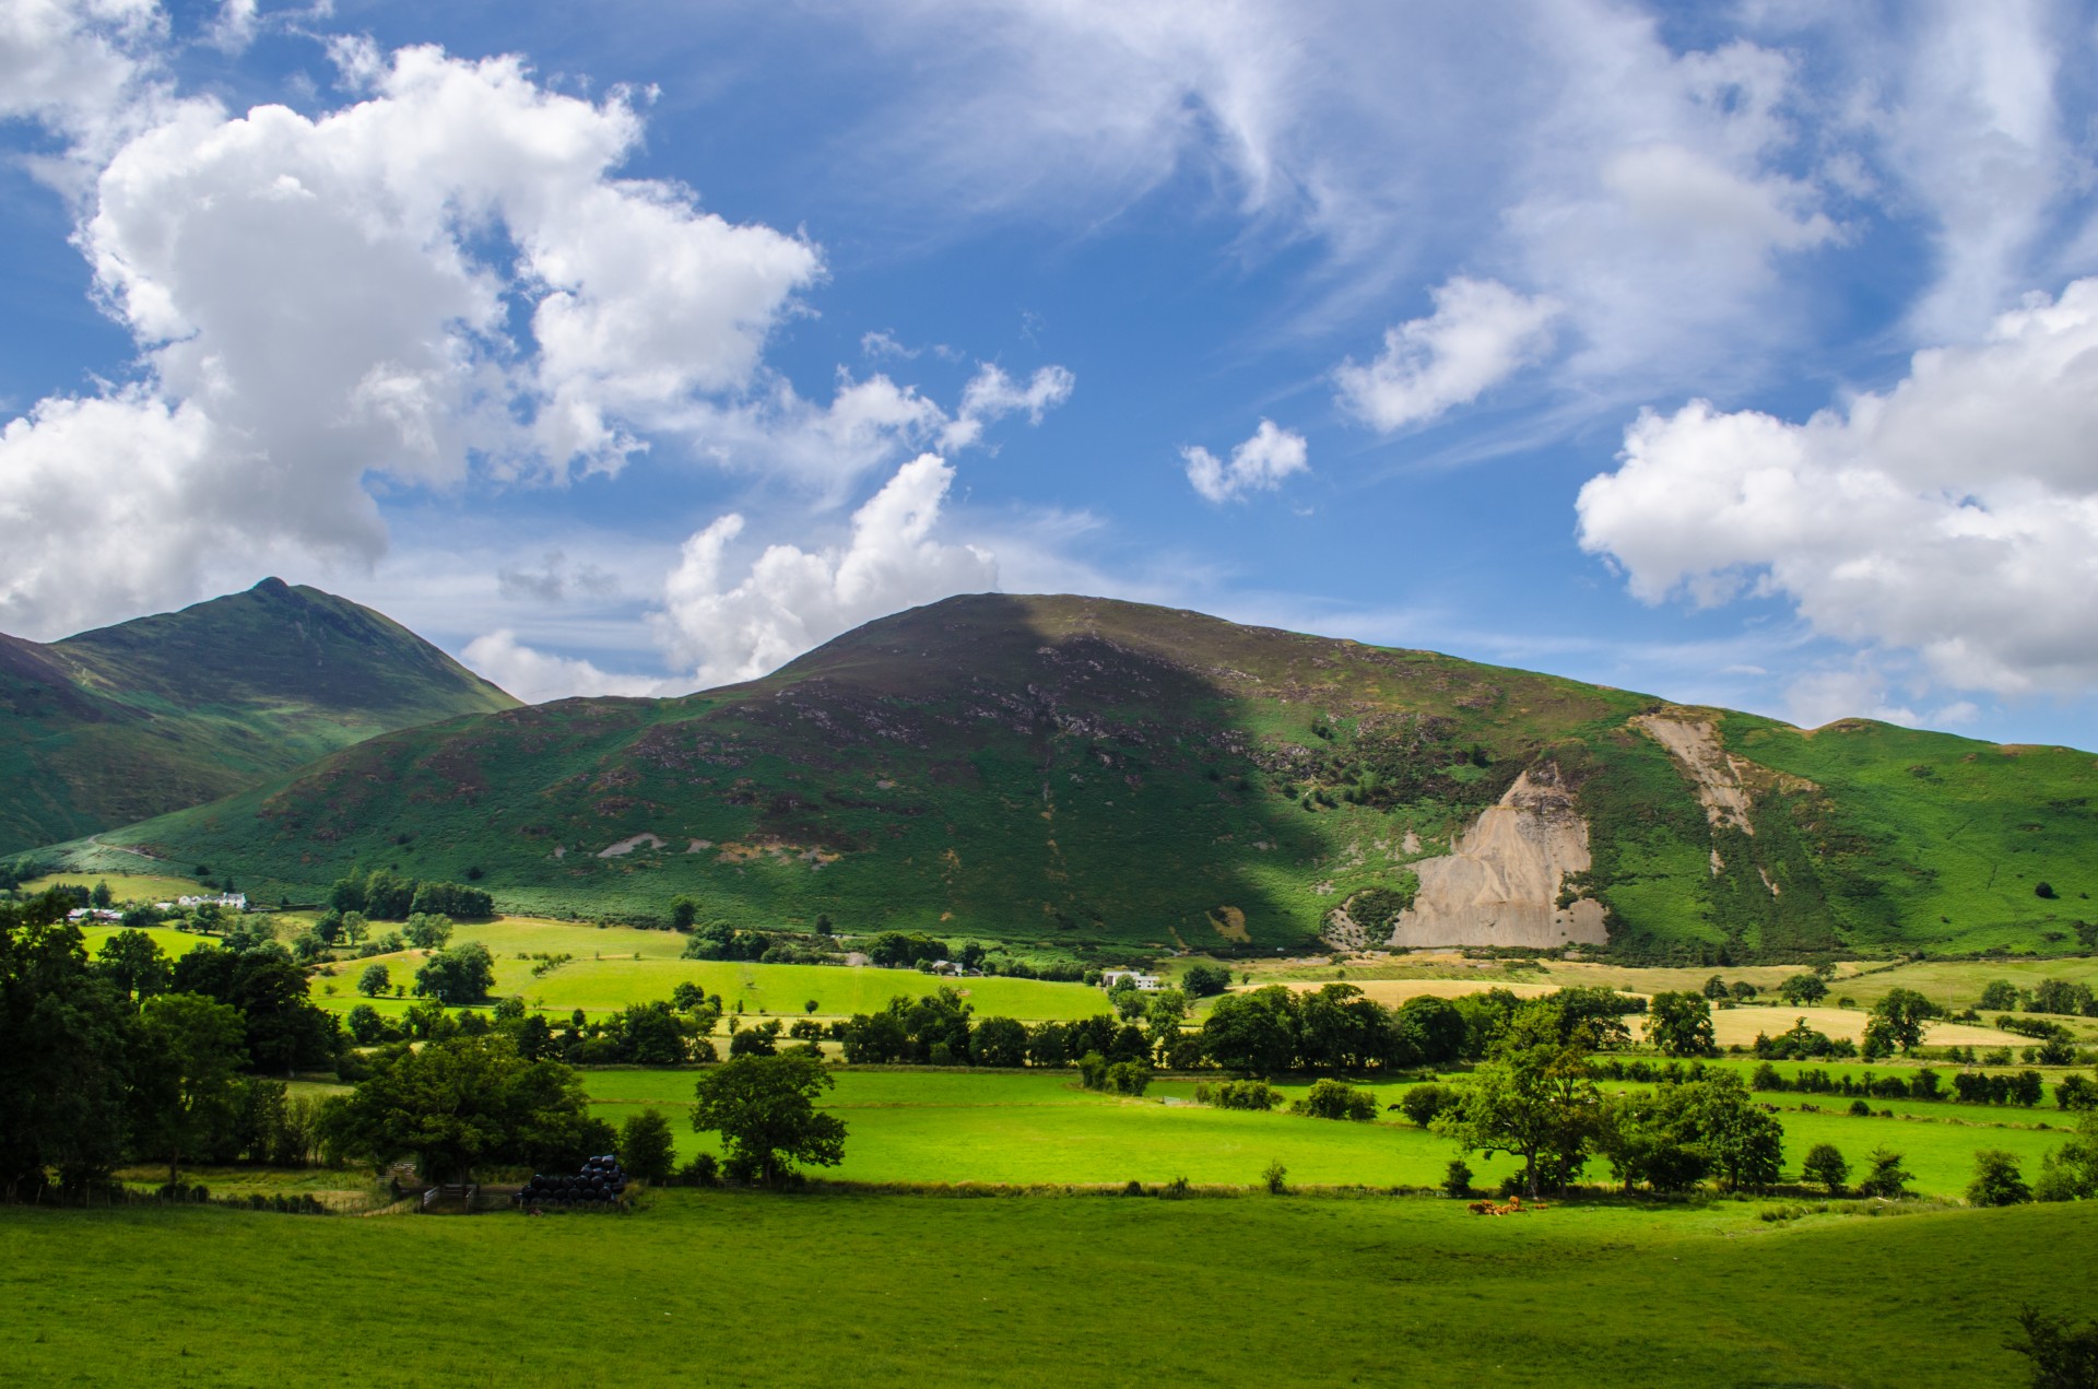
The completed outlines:
[[[1494,279],[1456,277],[1433,292],[1435,313],[1385,332],[1368,365],[1334,371],[1341,405],[1378,430],[1469,405],[1550,346],[1559,304]]]

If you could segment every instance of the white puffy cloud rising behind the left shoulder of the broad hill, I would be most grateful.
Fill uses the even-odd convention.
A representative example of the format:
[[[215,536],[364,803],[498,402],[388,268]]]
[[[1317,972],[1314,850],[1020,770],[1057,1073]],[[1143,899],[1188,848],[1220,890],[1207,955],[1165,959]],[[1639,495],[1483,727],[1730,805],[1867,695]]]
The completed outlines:
[[[684,541],[652,615],[663,648],[701,686],[753,680],[875,617],[999,585],[997,558],[934,539],[955,470],[923,453],[852,516],[843,548],[770,546],[728,581],[745,518],[728,514]]]

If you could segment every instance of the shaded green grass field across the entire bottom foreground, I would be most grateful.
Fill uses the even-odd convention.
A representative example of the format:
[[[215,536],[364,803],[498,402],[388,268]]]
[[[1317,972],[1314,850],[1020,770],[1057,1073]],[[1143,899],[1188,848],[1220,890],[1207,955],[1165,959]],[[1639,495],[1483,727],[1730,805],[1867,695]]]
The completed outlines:
[[[2008,1385],[2020,1303],[2088,1313],[2064,1276],[2098,1263],[2090,1204],[1767,1223],[1743,1202],[1498,1221],[1427,1198],[650,1202],[6,1209],[6,1379]]]

